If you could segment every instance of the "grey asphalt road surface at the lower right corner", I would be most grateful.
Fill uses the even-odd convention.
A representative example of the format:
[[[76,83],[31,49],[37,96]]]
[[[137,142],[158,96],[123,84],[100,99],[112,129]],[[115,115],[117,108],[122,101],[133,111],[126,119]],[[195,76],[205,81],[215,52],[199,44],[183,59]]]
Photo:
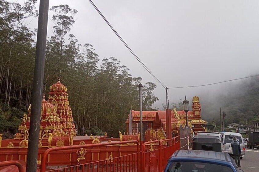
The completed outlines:
[[[240,160],[240,169],[244,172],[258,172],[259,171],[259,150],[246,149],[246,154]]]

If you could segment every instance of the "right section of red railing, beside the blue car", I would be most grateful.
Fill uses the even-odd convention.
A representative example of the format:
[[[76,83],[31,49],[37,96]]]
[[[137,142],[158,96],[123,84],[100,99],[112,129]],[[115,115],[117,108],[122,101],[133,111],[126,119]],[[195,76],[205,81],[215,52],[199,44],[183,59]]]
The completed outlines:
[[[142,146],[142,153],[141,153],[141,171],[145,172],[158,172],[163,171],[167,160],[172,156],[172,154],[180,149],[180,140],[179,136],[174,137],[173,139],[165,139],[165,140],[155,140],[151,142],[145,142]],[[145,152],[146,145],[152,145],[156,142],[159,143],[158,148],[153,148],[154,150],[147,150]],[[166,143],[168,146],[163,147],[163,143]]]

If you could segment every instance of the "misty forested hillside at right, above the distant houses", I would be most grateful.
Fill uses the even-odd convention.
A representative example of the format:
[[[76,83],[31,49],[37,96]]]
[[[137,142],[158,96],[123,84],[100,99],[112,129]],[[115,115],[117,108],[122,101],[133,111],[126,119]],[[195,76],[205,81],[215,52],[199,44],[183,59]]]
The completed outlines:
[[[223,111],[226,114],[224,124],[235,122],[243,125],[252,125],[259,120],[259,77],[244,79],[225,87],[222,93],[213,98],[202,99],[202,117],[207,121],[215,120],[220,126],[219,108],[221,118]],[[204,96],[204,94],[202,95]]]

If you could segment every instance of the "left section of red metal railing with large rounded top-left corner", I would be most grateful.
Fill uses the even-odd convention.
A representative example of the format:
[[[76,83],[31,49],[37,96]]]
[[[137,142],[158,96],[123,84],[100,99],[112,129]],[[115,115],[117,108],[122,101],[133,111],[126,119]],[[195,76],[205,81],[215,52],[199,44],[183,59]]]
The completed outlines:
[[[109,146],[109,145],[118,145],[118,144],[127,144],[127,143],[135,143],[137,144],[137,152],[126,155],[126,156],[120,156],[115,157],[110,160],[101,160],[96,161],[92,163],[86,163],[71,167],[64,167],[56,170],[49,170],[49,171],[64,171],[64,172],[72,172],[72,171],[88,171],[88,172],[98,172],[98,171],[137,171],[139,172],[139,142],[137,140],[131,140],[131,141],[124,141],[124,142],[115,142],[115,143],[100,143],[100,144],[87,144],[87,145],[73,145],[73,146],[62,146],[62,147],[53,147],[50,149],[47,149],[43,156],[41,161],[41,172],[45,172],[45,166],[46,166],[46,160],[48,157],[48,154],[53,151],[59,151],[59,150],[69,150],[69,149],[80,149],[80,148],[87,148],[87,147],[96,147],[96,146]],[[111,160],[113,162],[111,162]]]

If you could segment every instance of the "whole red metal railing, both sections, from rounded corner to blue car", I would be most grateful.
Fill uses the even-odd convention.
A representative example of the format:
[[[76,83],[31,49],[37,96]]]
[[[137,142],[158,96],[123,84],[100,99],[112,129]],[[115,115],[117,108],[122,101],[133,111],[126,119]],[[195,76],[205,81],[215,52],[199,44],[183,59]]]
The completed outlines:
[[[41,172],[45,172],[46,159],[48,154],[53,151],[59,150],[75,150],[79,148],[95,147],[95,146],[108,146],[117,144],[137,144],[137,152],[125,156],[112,157],[106,160],[95,161],[70,167],[63,167],[55,170],[47,170],[46,172],[161,172],[164,170],[167,160],[178,149],[180,149],[180,137],[177,136],[173,139],[155,140],[145,142],[142,145],[140,152],[139,142],[136,140],[116,142],[116,143],[100,143],[88,145],[74,145],[54,147],[47,149],[43,154],[41,163]],[[146,147],[149,146],[149,147]],[[153,149],[152,149],[153,147]],[[141,156],[141,158],[140,158]]]

